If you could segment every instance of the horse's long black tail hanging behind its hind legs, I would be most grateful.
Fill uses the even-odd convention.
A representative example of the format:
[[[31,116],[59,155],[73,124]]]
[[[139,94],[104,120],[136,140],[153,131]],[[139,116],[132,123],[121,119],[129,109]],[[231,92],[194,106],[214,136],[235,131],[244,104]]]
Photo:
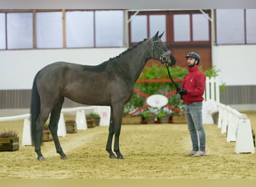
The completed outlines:
[[[38,73],[37,73],[38,75]],[[37,133],[36,122],[37,117],[40,114],[40,96],[37,90],[37,75],[34,77],[31,93],[31,104],[30,104],[30,121],[31,121],[31,138],[32,145],[34,145],[35,136]]]

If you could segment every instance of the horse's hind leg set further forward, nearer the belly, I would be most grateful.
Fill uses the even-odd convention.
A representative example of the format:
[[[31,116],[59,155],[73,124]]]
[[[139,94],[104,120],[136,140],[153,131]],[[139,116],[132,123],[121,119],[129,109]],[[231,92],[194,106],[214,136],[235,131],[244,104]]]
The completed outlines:
[[[49,121],[49,129],[51,130],[52,138],[53,138],[57,153],[61,155],[61,159],[67,159],[67,156],[65,155],[65,153],[61,148],[61,144],[60,144],[60,141],[58,140],[58,134],[57,134],[58,120],[60,119],[60,116],[61,116],[61,107],[63,102],[64,102],[64,98],[61,98],[61,100],[52,109],[51,117]]]

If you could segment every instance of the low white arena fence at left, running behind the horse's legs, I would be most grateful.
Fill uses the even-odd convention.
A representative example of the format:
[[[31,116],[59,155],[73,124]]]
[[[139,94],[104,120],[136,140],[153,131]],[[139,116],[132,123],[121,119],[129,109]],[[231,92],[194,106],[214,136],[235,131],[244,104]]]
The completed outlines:
[[[79,130],[86,130],[86,114],[97,113],[100,114],[100,126],[109,126],[110,120],[110,107],[109,106],[84,106],[77,108],[64,108],[61,110],[61,117],[58,121],[58,136],[66,136],[66,125],[64,120],[64,114],[76,114],[76,126]],[[0,117],[0,121],[13,121],[24,120],[23,133],[22,133],[22,145],[31,145],[31,125],[30,114],[22,114],[11,117]]]

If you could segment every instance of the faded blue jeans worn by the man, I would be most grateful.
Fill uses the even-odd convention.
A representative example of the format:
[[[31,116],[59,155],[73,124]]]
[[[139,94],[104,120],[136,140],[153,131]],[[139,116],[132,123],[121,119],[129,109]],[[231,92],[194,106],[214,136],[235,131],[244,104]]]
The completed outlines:
[[[202,102],[192,102],[185,105],[186,122],[188,123],[188,129],[192,141],[192,150],[195,151],[205,151],[205,132],[202,120],[202,106]]]

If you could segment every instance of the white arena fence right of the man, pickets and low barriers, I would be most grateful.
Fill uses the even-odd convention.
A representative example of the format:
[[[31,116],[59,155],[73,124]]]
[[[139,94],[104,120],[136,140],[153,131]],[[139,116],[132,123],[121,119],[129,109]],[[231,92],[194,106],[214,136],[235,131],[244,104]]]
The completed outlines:
[[[207,77],[204,92],[203,123],[213,124],[213,112],[219,111],[218,128],[227,141],[235,141],[235,153],[255,153],[252,126],[246,114],[219,102],[218,77]]]

